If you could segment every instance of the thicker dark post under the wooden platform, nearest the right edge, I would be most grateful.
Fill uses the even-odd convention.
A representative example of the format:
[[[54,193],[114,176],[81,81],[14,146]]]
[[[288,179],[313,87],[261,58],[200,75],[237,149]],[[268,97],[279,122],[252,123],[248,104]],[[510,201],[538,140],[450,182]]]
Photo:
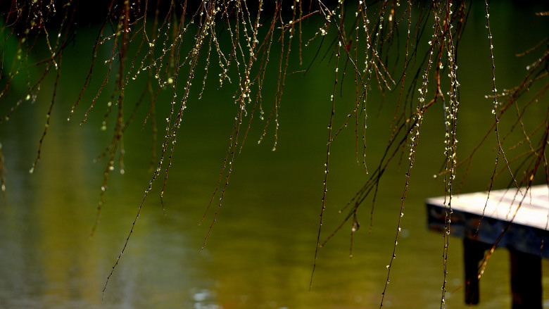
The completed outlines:
[[[541,257],[510,250],[512,309],[541,309]]]

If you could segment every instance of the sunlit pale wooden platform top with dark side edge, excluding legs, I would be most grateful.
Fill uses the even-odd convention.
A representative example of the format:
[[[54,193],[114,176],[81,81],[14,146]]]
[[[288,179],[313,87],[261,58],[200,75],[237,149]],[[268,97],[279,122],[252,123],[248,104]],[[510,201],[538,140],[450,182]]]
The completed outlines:
[[[429,229],[442,232],[448,201],[439,196],[426,203]],[[460,194],[453,196],[451,209],[450,234],[549,258],[549,245],[544,246],[549,241],[548,186],[495,190],[489,197],[487,192]]]

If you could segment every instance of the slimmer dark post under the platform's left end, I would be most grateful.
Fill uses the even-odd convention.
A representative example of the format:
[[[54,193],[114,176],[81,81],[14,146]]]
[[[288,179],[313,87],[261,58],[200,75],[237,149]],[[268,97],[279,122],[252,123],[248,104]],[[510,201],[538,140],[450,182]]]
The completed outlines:
[[[479,303],[479,263],[490,245],[472,239],[463,239],[463,256],[465,258],[465,303]]]

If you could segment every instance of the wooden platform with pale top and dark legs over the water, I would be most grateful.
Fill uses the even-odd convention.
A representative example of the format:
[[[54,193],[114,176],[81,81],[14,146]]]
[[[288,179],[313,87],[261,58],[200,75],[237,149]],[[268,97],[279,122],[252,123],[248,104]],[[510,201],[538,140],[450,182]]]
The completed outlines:
[[[445,231],[444,201],[444,196],[426,201],[431,230]],[[450,234],[463,239],[465,302],[479,303],[479,265],[496,244],[510,251],[512,308],[542,308],[541,258],[549,258],[548,186],[493,190],[489,198],[488,192],[460,194],[453,196],[451,208]]]

